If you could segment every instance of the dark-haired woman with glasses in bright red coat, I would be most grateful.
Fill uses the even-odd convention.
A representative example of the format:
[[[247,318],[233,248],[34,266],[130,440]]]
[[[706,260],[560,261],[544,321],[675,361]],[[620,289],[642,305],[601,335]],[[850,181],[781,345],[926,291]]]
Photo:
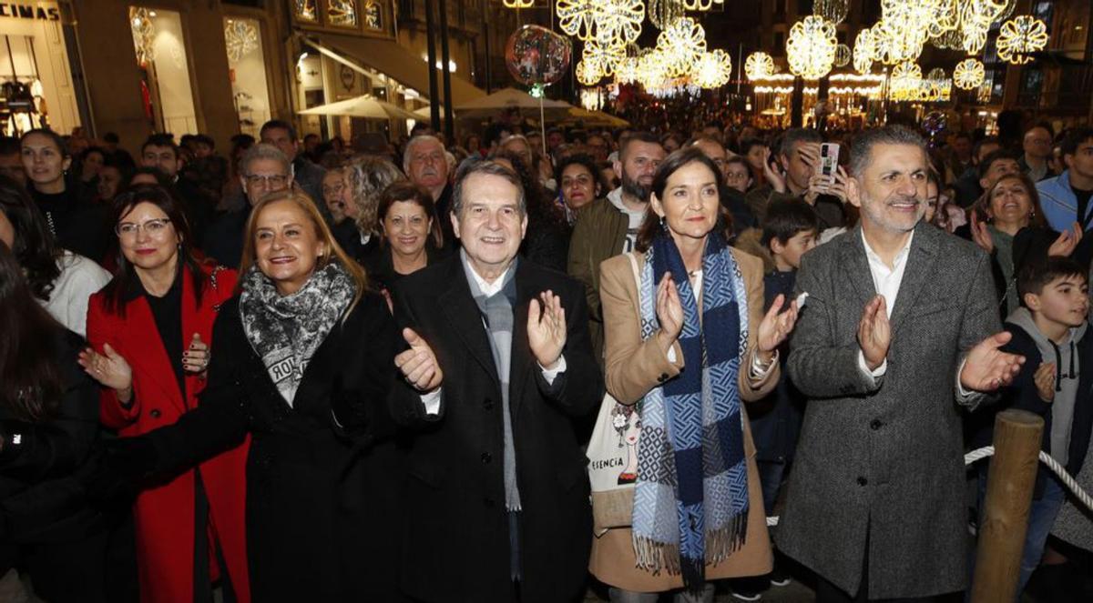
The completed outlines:
[[[120,248],[114,280],[91,297],[85,370],[103,386],[101,418],[120,436],[175,423],[198,403],[212,324],[234,271],[200,265],[181,208],[157,186],[115,199]],[[212,601],[212,583],[250,601],[244,535],[248,441],[169,482],[133,508],[141,601]],[[226,571],[225,571],[226,570]]]

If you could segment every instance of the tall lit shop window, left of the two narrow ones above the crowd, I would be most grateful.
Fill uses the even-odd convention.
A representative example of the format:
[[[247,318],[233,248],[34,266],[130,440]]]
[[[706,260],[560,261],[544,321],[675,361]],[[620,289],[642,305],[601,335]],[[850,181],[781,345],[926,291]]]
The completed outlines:
[[[180,14],[130,7],[129,24],[141,71],[144,113],[152,129],[179,135],[197,133],[198,121]]]

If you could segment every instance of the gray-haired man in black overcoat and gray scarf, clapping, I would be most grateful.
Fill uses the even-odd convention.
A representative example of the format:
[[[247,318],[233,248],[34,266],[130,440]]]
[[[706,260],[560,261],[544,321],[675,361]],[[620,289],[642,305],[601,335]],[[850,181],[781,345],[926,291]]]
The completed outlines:
[[[592,529],[574,418],[603,395],[584,288],[518,260],[517,176],[465,164],[451,198],[460,252],[406,276],[409,350],[395,419],[416,429],[400,582],[445,603],[565,603],[583,595]]]

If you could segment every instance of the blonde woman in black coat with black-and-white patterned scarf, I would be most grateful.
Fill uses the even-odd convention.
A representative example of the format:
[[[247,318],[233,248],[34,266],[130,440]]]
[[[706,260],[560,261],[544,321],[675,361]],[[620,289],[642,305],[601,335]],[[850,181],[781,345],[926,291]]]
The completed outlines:
[[[255,206],[239,282],[201,404],[122,440],[109,464],[166,474],[249,434],[252,600],[395,601],[402,454],[385,405],[398,344],[387,304],[292,191]]]

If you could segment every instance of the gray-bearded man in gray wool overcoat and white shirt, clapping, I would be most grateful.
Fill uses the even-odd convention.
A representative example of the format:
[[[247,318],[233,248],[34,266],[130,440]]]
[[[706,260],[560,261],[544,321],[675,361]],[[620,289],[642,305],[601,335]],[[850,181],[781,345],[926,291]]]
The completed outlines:
[[[788,358],[808,398],[778,548],[816,601],[965,588],[961,411],[1010,382],[989,258],[922,222],[926,143],[885,127],[850,150],[860,226],[804,256]]]

